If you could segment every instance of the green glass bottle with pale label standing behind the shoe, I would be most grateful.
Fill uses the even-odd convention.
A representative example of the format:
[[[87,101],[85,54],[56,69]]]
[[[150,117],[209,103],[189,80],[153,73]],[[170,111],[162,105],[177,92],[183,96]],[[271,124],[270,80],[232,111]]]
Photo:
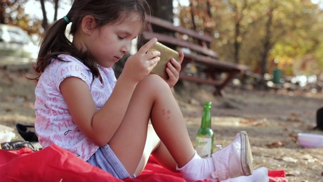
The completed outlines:
[[[211,128],[211,102],[204,103],[201,128],[196,135],[197,154],[201,157],[210,157],[213,152],[214,133]]]

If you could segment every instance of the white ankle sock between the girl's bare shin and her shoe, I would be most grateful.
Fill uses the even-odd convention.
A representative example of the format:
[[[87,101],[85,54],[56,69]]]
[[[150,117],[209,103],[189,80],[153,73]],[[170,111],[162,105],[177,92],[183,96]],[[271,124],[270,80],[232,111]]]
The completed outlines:
[[[211,172],[216,171],[212,158],[201,158],[196,151],[193,158],[183,167],[177,167],[177,170],[181,171],[183,178],[187,181],[204,179],[210,179],[214,182],[218,181],[211,176]]]

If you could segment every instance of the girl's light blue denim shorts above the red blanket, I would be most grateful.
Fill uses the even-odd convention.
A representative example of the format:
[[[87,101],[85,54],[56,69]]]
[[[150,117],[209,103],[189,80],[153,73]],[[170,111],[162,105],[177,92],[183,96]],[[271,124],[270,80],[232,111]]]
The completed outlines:
[[[118,157],[112,151],[110,146],[106,144],[100,147],[88,160],[88,163],[99,167],[106,172],[109,172],[114,177],[123,179],[126,177],[134,178],[135,175],[130,176],[126,168],[122,165]]]

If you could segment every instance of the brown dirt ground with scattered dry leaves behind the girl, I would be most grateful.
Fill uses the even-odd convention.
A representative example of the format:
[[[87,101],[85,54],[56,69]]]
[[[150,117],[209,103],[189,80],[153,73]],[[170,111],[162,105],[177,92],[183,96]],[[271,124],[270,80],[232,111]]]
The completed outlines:
[[[24,74],[34,76],[30,71]],[[33,124],[36,83],[16,69],[0,69],[0,77],[0,124],[12,128],[17,123]],[[214,146],[229,145],[238,131],[245,130],[255,169],[285,170],[288,181],[323,181],[323,149],[304,149],[297,142],[300,132],[323,134],[312,130],[316,110],[323,105],[322,93],[264,92],[229,86],[222,98],[212,96],[213,87],[190,82],[176,85],[175,90],[193,145],[203,104],[211,101]],[[17,140],[23,139],[19,136]]]

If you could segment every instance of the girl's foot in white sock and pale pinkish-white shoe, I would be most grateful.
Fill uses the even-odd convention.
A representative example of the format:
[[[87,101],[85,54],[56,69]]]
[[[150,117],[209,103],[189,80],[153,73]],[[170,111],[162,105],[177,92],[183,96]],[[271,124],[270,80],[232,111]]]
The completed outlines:
[[[176,168],[181,171],[186,181],[204,179],[220,181],[251,175],[253,166],[248,135],[245,131],[240,131],[229,146],[213,153],[211,157],[201,158],[195,152],[187,164]]]

